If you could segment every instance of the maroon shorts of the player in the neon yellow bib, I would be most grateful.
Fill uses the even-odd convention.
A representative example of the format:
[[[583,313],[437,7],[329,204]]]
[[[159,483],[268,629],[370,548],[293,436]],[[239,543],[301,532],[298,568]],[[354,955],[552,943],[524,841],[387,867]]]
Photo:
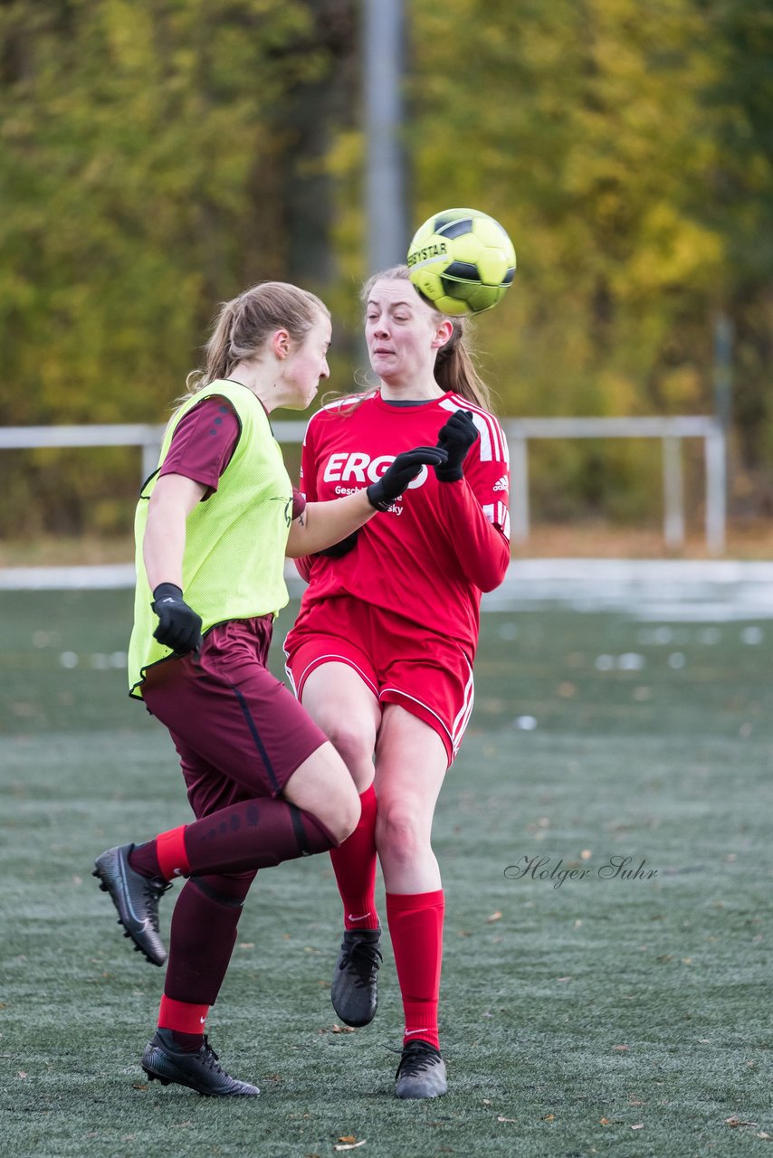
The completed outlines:
[[[327,736],[265,667],[271,617],[220,623],[199,654],[152,667],[143,698],[169,728],[196,816],[279,796]]]

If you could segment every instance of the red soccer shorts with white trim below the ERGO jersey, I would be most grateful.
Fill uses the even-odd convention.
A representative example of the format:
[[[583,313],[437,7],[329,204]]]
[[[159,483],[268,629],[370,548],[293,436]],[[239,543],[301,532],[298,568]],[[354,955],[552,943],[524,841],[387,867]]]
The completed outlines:
[[[348,664],[381,704],[429,724],[455,757],[473,710],[473,669],[459,644],[349,596],[314,603],[285,640],[287,675],[304,684],[322,664]]]

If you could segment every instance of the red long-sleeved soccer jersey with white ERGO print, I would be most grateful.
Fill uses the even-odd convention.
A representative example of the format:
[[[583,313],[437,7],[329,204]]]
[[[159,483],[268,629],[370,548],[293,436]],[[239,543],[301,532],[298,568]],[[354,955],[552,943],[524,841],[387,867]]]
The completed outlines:
[[[353,595],[455,639],[472,660],[481,592],[502,582],[510,562],[509,457],[496,418],[451,393],[411,406],[391,405],[380,394],[353,408],[351,400],[333,403],[309,420],[301,490],[313,503],[369,486],[402,450],[435,446],[460,408],[472,412],[480,433],[465,477],[438,483],[432,468],[422,467],[389,511],[360,529],[349,555],[297,560],[309,580],[299,629],[320,600]]]

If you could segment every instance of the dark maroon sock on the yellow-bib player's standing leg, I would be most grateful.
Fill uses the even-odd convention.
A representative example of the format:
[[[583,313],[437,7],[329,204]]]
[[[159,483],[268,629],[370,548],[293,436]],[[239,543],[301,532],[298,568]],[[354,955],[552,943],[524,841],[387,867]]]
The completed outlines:
[[[254,872],[189,880],[172,914],[166,997],[214,1005],[236,943],[236,925]]]

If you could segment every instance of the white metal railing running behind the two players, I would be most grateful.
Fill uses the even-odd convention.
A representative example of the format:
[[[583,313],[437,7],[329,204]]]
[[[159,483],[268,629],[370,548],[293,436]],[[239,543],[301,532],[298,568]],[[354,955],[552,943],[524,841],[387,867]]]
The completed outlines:
[[[727,522],[727,448],[720,423],[707,417],[670,418],[508,418],[502,423],[512,469],[510,519],[512,538],[525,543],[530,534],[528,441],[530,439],[646,438],[659,439],[663,470],[663,537],[668,547],[685,540],[685,501],[681,441],[703,440],[706,463],[705,533],[712,555],[724,550]],[[301,442],[306,422],[276,422],[279,442]],[[137,446],[141,448],[141,476],[155,469],[163,426],[132,424],[115,426],[5,426],[0,427],[0,450],[31,450],[41,447]]]

